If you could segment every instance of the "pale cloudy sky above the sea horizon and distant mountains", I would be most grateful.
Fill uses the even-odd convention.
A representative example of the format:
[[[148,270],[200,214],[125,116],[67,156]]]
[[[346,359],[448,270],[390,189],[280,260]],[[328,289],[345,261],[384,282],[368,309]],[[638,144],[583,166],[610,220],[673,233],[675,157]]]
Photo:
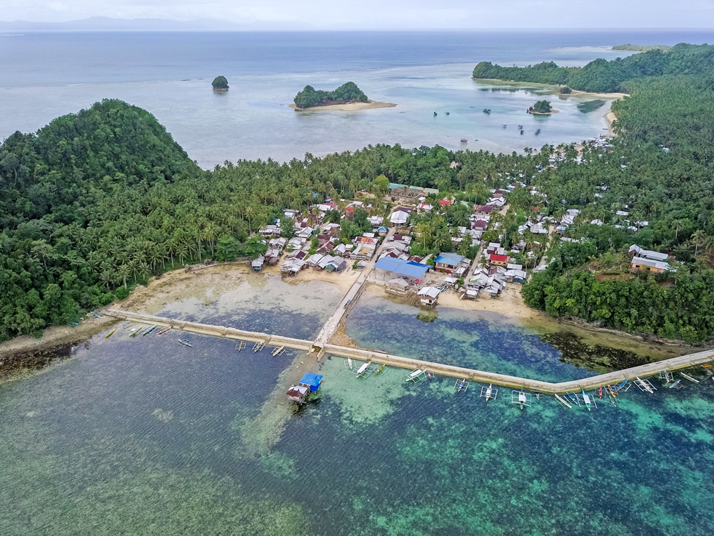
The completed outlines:
[[[4,0],[0,20],[219,19],[316,29],[713,28],[714,0]]]

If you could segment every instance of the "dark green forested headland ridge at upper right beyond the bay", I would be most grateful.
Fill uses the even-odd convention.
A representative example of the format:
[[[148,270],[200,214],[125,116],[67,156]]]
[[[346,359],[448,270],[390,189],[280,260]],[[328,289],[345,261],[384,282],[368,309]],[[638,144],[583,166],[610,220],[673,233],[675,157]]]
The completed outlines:
[[[526,67],[503,67],[481,61],[473,78],[563,84],[580,91],[630,91],[630,83],[650,76],[709,75],[714,46],[678,44],[666,52],[653,49],[612,61],[595,59],[584,67],[559,67],[552,61]]]

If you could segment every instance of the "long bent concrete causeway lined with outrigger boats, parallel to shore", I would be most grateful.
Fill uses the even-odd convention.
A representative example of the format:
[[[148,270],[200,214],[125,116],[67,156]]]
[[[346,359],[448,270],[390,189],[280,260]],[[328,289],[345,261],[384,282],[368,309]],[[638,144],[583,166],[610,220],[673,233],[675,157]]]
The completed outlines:
[[[321,354],[328,354],[337,357],[351,357],[361,361],[384,363],[393,367],[401,367],[404,369],[428,369],[435,374],[468,379],[473,382],[492,383],[502,385],[504,387],[516,387],[519,389],[528,389],[553,394],[563,393],[565,391],[578,391],[580,389],[597,389],[598,387],[605,387],[605,385],[608,384],[623,382],[625,379],[648,377],[665,370],[671,371],[684,369],[687,367],[694,367],[698,364],[714,361],[714,349],[710,349],[703,352],[696,352],[694,354],[663,359],[662,361],[643,364],[638,367],[608,372],[607,374],[599,374],[598,376],[574,379],[570,382],[551,383],[541,382],[538,379],[508,376],[506,374],[496,374],[495,372],[484,372],[483,370],[455,367],[449,364],[421,361],[420,359],[411,359],[409,357],[401,357],[398,355],[386,354],[384,352],[348,348],[336,346],[335,344],[318,345],[313,341],[304,339],[293,339],[291,337],[282,337],[280,335],[271,335],[260,332],[248,332],[234,327],[213,326],[211,324],[200,324],[198,322],[186,322],[183,320],[155,317],[151,314],[121,311],[119,309],[105,309],[104,314],[122,320],[129,320],[131,322],[141,322],[143,324],[150,325],[156,324],[158,326],[171,326],[174,329],[180,329],[184,332],[212,335],[214,337],[223,337],[226,339],[249,342],[263,342],[266,345],[269,344],[276,347],[284,346],[286,348],[303,350],[304,352],[315,353],[316,349],[319,348],[318,356],[321,356]]]

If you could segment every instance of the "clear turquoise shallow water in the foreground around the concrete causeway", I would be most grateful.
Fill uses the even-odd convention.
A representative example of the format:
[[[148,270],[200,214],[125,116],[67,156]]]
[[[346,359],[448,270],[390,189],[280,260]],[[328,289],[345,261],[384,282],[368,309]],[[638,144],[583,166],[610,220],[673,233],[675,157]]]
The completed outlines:
[[[276,295],[266,292],[266,303]],[[220,303],[190,314],[228,324],[233,314]],[[276,313],[284,334],[319,329],[321,314],[291,320],[286,309]],[[368,327],[359,312],[352,322]],[[394,342],[392,329],[365,328],[378,347],[415,336],[398,309],[381,312],[403,335]],[[458,335],[451,322],[441,312],[419,322],[448,327],[433,332],[434,353],[447,354]],[[590,374],[524,328],[488,317],[476,326],[478,340],[471,328],[461,334],[462,348],[484,344],[473,362],[522,354],[518,369]],[[521,412],[508,389],[486,405],[477,384],[460,394],[446,378],[406,384],[401,369],[355,379],[332,358],[321,364],[321,396],[291,415],[271,392],[296,354],[236,352],[233,342],[199,336],[188,349],[175,337],[130,339],[119,329],[74,359],[0,384],[0,499],[11,505],[0,510],[1,534],[714,531],[710,380],[654,395],[631,389],[616,409],[567,410],[542,397]],[[266,407],[287,420],[256,453],[246,445],[262,441],[256,415]]]

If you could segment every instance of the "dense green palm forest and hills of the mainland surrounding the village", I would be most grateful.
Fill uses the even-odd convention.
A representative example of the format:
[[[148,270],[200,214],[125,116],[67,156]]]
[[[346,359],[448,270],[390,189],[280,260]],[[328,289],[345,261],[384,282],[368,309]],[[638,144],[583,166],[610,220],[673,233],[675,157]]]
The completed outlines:
[[[712,46],[678,45],[604,61],[603,72],[640,73],[611,81],[631,96],[613,103],[618,137],[606,150],[588,143],[580,152],[546,145],[496,155],[377,145],[205,171],[154,116],[117,100],[36,134],[18,132],[0,146],[0,340],[76,322],[186,263],[253,257],[265,247],[256,232],[284,209],[310,212],[325,199],[382,194],[381,175],[455,200],[414,217],[411,254],[461,251],[451,240],[468,224],[461,201],[483,204],[519,177],[508,213],[495,221],[504,247],[526,244],[524,264],[530,252],[545,256],[547,269],[523,286],[527,304],[628,332],[713,339],[713,57]],[[642,76],[625,68],[632,61],[665,72]],[[550,244],[518,232],[568,209],[580,212]],[[498,239],[494,233],[483,239]],[[631,244],[670,254],[676,269],[630,271]]]

